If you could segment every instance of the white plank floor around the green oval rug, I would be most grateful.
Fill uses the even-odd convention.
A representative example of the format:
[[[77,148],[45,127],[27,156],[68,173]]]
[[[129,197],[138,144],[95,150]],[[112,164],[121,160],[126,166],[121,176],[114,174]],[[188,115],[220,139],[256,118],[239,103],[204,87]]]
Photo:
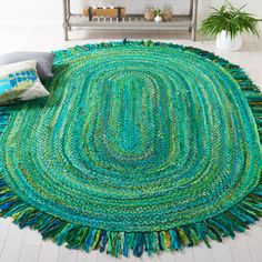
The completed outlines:
[[[74,38],[87,37],[85,32],[72,32]],[[158,41],[175,42],[185,46],[202,48],[230,61],[242,66],[251,79],[262,89],[262,42],[253,38],[245,38],[242,50],[238,52],[219,52],[213,41],[191,42],[183,40],[181,33],[148,32],[102,32],[90,33],[89,40],[64,42],[63,32],[58,27],[37,28],[1,28],[0,54],[18,50],[56,50],[87,42],[128,39],[152,39]],[[28,229],[20,230],[10,219],[0,219],[0,262],[262,262],[262,220],[244,234],[238,234],[235,240],[226,239],[223,243],[212,243],[212,249],[204,245],[187,249],[172,254],[142,259],[119,260],[109,255],[91,252],[71,251],[59,248],[50,241],[42,241],[41,236]]]

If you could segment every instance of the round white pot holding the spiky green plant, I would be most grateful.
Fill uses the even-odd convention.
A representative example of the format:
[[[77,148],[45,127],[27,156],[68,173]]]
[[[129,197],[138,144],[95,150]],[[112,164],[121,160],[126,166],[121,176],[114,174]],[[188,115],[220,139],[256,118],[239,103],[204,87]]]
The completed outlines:
[[[236,51],[242,46],[242,37],[240,33],[235,38],[231,39],[230,33],[222,31],[216,37],[216,47],[223,51]]]

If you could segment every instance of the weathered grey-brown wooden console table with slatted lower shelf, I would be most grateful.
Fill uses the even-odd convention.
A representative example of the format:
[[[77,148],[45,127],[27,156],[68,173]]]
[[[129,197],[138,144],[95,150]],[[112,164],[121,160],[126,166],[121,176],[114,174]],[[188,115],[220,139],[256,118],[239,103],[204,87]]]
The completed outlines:
[[[72,28],[85,28],[97,30],[189,30],[191,39],[195,40],[198,0],[189,0],[190,10],[188,14],[175,14],[171,21],[154,22],[144,20],[143,14],[125,14],[120,21],[118,18],[94,17],[89,19],[88,14],[72,13],[70,0],[63,0],[63,28],[64,39],[69,39]]]

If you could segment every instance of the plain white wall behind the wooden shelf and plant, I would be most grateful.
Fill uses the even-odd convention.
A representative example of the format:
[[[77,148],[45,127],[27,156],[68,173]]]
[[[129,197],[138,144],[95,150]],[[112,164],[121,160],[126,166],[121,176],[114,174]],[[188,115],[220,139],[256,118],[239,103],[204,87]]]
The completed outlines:
[[[210,6],[219,7],[224,0],[199,0],[199,20],[204,18]],[[125,6],[128,12],[142,12],[145,4],[161,8],[173,3],[177,13],[187,11],[189,0],[71,0],[73,10],[81,12],[84,6],[92,3]],[[262,18],[262,0],[232,0],[236,6],[246,2],[246,10]],[[0,0],[0,26],[4,24],[61,24],[62,0]],[[261,27],[262,29],[262,27]]]

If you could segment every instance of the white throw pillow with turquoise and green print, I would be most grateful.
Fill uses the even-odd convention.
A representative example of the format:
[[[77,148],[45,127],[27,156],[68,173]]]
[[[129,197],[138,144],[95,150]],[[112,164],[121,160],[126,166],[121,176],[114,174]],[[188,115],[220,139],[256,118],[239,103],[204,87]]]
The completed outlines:
[[[0,67],[0,105],[49,95],[37,73],[37,61]]]

